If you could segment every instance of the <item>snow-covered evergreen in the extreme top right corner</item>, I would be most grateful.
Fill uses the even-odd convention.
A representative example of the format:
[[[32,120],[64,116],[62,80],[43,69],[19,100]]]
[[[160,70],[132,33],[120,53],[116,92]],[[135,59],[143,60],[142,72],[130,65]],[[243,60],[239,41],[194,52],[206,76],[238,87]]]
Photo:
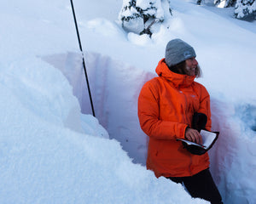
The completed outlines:
[[[256,16],[256,0],[237,0],[235,15],[237,19],[243,19],[253,15]]]

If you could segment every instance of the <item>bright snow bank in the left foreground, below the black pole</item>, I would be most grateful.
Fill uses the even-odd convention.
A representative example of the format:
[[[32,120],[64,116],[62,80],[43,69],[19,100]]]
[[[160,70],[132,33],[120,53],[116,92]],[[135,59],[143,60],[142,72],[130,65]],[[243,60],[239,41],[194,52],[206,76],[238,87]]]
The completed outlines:
[[[81,122],[60,71],[36,58],[0,67],[1,203],[207,203],[133,164],[96,118]]]

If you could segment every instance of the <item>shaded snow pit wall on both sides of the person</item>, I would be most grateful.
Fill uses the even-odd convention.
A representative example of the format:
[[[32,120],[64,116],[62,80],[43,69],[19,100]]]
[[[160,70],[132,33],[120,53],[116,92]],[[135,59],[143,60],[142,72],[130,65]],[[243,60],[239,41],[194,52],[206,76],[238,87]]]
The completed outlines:
[[[82,113],[91,114],[81,54],[54,54],[43,59],[62,71],[73,87],[73,94],[79,99]],[[137,97],[144,82],[155,77],[154,73],[102,54],[86,54],[85,64],[96,118],[108,130],[110,139],[120,142],[133,162],[145,165],[148,137],[139,126]],[[256,187],[252,184],[256,176],[241,178],[247,173],[253,175],[256,167],[254,123],[247,128],[245,121],[255,106],[246,106],[246,112],[240,106],[244,107],[227,104],[220,96],[211,94],[212,130],[219,131],[220,135],[209,150],[210,169],[224,203],[256,201]]]

